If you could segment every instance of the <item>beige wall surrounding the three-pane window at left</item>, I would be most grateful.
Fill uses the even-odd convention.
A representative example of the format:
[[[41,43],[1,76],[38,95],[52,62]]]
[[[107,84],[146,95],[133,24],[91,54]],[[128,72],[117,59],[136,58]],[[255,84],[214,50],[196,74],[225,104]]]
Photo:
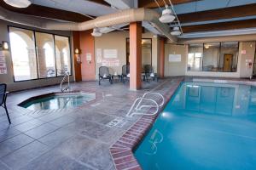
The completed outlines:
[[[4,20],[0,20],[0,42],[2,41],[9,42],[8,26],[16,26],[20,28],[32,29],[35,31],[44,31],[38,28],[32,28],[29,26],[20,26],[14,23],[6,22]],[[70,31],[44,31],[44,32],[71,37]],[[17,91],[17,90],[22,90],[27,88],[38,88],[38,87],[58,84],[61,82],[62,77],[45,78],[45,79],[38,79],[38,80],[24,81],[24,82],[14,82],[12,59],[11,59],[10,51],[4,51],[4,56],[7,63],[8,74],[0,75],[0,82],[7,83],[9,91]],[[73,76],[71,77],[71,80],[73,81]]]

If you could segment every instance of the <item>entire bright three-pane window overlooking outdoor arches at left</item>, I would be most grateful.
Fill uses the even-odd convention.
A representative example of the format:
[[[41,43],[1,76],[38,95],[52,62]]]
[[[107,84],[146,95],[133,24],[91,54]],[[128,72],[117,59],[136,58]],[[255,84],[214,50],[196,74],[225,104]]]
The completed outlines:
[[[68,37],[9,27],[15,81],[71,73]]]

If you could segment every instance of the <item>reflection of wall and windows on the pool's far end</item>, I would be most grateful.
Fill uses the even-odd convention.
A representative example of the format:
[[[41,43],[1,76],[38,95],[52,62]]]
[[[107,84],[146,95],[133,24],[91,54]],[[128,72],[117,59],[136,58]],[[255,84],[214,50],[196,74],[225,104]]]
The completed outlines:
[[[256,113],[256,88],[186,82],[173,99],[170,109],[224,116],[253,115]]]

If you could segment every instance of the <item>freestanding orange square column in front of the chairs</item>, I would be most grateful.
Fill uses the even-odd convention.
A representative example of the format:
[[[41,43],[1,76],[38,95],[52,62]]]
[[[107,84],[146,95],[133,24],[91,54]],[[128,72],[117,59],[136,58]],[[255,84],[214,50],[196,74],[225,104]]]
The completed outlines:
[[[142,22],[130,23],[130,90],[142,87]]]

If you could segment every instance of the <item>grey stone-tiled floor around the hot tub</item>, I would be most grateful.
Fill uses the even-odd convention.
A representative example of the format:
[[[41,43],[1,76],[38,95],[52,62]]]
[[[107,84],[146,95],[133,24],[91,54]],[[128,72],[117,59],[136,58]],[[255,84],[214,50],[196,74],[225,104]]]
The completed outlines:
[[[0,109],[0,169],[114,169],[109,147],[139,118],[125,117],[133,101],[148,91],[166,94],[177,80],[145,82],[136,92],[120,82],[103,82],[102,86],[73,83],[73,90],[96,92],[96,100],[59,111],[29,111],[17,106],[32,96],[58,92],[59,86],[9,94],[10,126]],[[124,126],[106,126],[117,117],[123,118]]]

